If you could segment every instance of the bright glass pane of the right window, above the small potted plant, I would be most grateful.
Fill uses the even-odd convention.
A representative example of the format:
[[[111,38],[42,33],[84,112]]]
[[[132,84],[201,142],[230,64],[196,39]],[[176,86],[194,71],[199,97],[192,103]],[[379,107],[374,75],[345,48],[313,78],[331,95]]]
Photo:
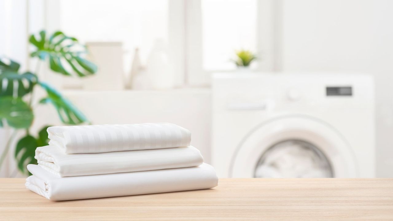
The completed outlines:
[[[256,52],[257,0],[202,0],[204,70],[234,70],[235,50]]]

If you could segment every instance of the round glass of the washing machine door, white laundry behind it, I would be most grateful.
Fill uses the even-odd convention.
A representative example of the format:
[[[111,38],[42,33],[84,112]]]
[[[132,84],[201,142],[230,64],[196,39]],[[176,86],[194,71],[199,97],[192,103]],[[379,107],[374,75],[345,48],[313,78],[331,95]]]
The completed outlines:
[[[254,177],[333,177],[332,166],[315,145],[303,140],[285,140],[268,148],[259,159]]]

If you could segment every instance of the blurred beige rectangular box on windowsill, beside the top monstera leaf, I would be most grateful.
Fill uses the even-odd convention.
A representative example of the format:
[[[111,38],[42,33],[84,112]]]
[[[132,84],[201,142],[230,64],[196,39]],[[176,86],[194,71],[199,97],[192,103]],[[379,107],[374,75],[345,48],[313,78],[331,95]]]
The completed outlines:
[[[98,66],[92,76],[84,77],[86,90],[123,90],[123,44],[121,42],[87,42],[88,59]]]

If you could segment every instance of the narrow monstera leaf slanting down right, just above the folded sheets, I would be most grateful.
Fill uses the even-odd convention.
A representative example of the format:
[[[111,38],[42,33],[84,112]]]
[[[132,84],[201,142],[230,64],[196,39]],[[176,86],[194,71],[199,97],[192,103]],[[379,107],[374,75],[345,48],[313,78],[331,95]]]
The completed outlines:
[[[87,121],[86,116],[78,110],[70,101],[64,98],[55,88],[50,87],[48,84],[39,83],[44,90],[48,93],[48,97],[42,98],[40,103],[51,103],[55,106],[59,118],[63,123],[79,124]]]

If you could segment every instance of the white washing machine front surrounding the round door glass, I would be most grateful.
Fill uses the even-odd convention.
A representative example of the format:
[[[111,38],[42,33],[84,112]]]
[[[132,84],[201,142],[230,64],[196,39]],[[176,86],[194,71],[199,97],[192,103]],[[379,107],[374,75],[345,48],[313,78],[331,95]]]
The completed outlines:
[[[261,149],[290,139],[309,142],[325,153],[334,177],[375,176],[371,76],[356,73],[217,73],[212,82],[211,163],[219,177],[255,176],[255,167],[264,153]],[[292,129],[285,130],[285,126],[281,126],[277,134],[271,129],[263,131],[262,125],[258,127],[259,123],[291,114],[312,116],[317,122],[326,122],[329,126],[325,125],[319,133],[312,127],[305,128],[307,123],[299,120],[299,125],[292,125]],[[277,125],[285,124],[277,122]],[[279,126],[270,124],[270,127]],[[253,133],[256,135],[251,135]],[[280,137],[279,133],[285,137]],[[249,153],[250,159],[241,157],[250,151],[241,150],[243,147],[252,149],[249,143],[254,136],[257,151]],[[328,150],[329,146],[336,148]],[[345,150],[339,150],[339,146]],[[347,163],[334,162],[335,158],[339,159],[335,153],[342,154],[342,161]],[[242,159],[244,165],[234,166]],[[346,165],[349,168],[345,168]]]

